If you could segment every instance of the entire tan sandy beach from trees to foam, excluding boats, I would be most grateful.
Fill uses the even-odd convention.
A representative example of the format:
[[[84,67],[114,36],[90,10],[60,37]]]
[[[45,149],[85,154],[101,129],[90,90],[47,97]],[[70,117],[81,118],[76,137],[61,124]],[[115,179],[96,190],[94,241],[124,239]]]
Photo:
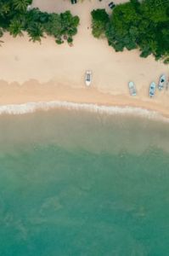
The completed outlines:
[[[126,1],[115,1],[124,3]],[[169,117],[169,90],[156,90],[149,98],[149,84],[158,83],[161,73],[169,75],[168,67],[152,56],[139,57],[138,50],[115,53],[105,39],[92,36],[92,9],[108,9],[109,1],[86,0],[71,5],[67,0],[34,0],[42,11],[63,12],[70,9],[81,24],[73,47],[57,45],[54,38],[42,39],[42,44],[29,38],[3,36],[0,48],[0,105],[25,102],[66,101],[94,103],[104,106],[130,106],[155,110]],[[84,74],[93,71],[93,81],[86,88]],[[138,96],[129,96],[128,81],[134,81]]]

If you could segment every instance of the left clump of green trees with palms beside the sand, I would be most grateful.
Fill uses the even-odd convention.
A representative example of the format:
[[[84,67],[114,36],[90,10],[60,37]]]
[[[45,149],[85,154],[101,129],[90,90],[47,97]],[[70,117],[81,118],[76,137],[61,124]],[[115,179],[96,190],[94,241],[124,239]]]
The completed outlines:
[[[57,44],[71,43],[79,24],[78,16],[70,11],[60,15],[39,9],[28,9],[32,0],[0,0],[0,37],[9,32],[13,37],[27,32],[30,40],[41,41],[45,34],[54,36]]]

